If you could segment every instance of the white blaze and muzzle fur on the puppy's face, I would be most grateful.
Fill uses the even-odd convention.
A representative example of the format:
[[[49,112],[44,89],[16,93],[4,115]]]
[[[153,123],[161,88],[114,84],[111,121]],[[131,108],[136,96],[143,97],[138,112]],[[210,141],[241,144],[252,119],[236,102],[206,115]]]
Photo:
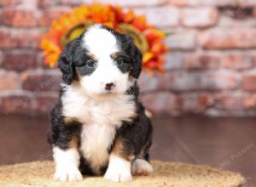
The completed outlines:
[[[113,82],[113,94],[123,94],[128,88],[128,73],[123,73],[114,65],[111,54],[119,52],[118,42],[110,31],[93,26],[84,34],[84,48],[96,58],[96,71],[81,80],[88,94],[106,94],[105,85]]]

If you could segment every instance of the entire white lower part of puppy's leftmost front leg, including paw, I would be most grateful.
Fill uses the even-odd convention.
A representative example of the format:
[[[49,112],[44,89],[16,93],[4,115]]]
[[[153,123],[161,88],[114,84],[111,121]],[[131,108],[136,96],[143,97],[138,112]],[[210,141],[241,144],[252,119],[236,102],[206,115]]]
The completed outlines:
[[[79,172],[79,152],[75,149],[61,150],[53,148],[55,160],[55,180],[76,181],[82,180],[83,176]]]

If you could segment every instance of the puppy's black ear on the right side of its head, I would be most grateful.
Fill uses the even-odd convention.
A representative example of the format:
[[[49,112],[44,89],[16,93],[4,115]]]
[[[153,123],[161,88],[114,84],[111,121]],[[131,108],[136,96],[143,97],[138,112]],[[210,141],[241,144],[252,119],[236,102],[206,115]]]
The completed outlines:
[[[129,37],[129,36],[128,36]],[[143,61],[143,54],[141,51],[137,48],[135,43],[133,42],[133,39],[129,37],[130,42],[130,56],[131,56],[131,76],[134,78],[138,78],[142,71],[142,61]]]

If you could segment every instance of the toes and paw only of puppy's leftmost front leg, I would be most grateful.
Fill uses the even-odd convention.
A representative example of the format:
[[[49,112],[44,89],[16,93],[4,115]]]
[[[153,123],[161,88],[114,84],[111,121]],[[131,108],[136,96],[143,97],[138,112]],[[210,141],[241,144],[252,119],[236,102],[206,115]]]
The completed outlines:
[[[78,168],[62,168],[56,169],[55,180],[59,181],[79,181],[83,179],[82,174],[79,172]]]

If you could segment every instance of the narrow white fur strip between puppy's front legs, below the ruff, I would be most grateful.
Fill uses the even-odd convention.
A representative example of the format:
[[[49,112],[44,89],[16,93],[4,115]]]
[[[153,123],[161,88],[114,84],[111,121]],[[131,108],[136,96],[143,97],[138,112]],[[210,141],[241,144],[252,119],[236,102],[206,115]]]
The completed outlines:
[[[108,163],[108,150],[113,144],[115,127],[109,125],[86,124],[80,136],[80,151],[90,162],[95,173]]]

